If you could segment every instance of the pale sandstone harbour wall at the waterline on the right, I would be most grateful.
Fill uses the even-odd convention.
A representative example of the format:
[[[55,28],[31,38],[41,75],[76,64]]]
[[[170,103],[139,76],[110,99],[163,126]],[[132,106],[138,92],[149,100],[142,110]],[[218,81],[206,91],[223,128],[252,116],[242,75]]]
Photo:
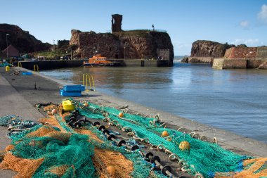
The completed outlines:
[[[214,58],[212,68],[215,69],[267,69],[267,59],[247,58]]]

